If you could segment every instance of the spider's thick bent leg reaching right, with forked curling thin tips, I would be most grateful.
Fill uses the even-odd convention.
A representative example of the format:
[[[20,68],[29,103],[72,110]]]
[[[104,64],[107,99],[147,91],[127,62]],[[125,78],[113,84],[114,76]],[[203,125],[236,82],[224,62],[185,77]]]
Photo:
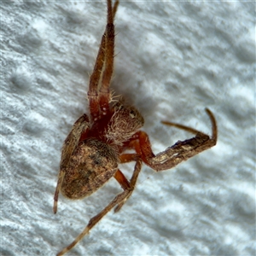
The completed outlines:
[[[196,131],[185,125],[179,125],[176,123],[163,122],[165,125],[175,126],[179,129],[189,131],[195,134],[192,137],[183,142],[178,141],[172,147],[166,148],[165,151],[154,155],[152,152],[148,135],[143,131],[137,132],[137,138],[139,141],[139,149],[137,149],[137,154],[140,154],[143,162],[150,166],[155,171],[164,171],[177,166],[184,160],[188,160],[195,154],[199,154],[208,148],[212,148],[217,143],[218,128],[216,119],[209,109],[206,109],[208,116],[212,122],[212,137],[207,136],[207,134]]]

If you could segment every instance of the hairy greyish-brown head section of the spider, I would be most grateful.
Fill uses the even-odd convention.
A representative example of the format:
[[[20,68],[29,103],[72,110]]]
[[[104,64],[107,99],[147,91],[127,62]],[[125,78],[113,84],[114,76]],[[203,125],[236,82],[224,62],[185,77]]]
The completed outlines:
[[[144,125],[144,119],[137,108],[126,105],[123,100],[113,105],[113,116],[108,124],[106,137],[114,144],[127,141]]]

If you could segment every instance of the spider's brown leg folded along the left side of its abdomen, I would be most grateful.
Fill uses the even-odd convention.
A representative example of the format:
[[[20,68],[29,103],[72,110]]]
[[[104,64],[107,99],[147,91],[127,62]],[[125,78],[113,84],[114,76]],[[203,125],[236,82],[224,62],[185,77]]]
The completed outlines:
[[[61,152],[61,167],[58,177],[58,182],[55,189],[55,196],[54,196],[54,213],[57,212],[57,204],[58,204],[58,197],[59,192],[61,189],[61,184],[63,182],[63,177],[65,176],[65,168],[69,163],[70,157],[73,154],[73,151],[79,145],[80,138],[86,133],[89,128],[89,118],[84,113],[79,119],[73,124],[72,130],[69,132],[65,142],[62,146]]]

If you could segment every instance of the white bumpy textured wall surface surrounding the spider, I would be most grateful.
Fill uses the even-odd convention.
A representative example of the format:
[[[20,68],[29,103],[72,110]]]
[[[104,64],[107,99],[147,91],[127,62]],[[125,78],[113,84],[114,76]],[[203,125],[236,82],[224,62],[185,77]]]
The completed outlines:
[[[52,212],[105,22],[104,1],[1,3],[1,255],[54,255],[121,191],[111,180]],[[121,1],[116,31],[112,88],[154,152],[191,137],[161,119],[210,133],[206,107],[218,145],[171,171],[143,166],[122,211],[69,255],[255,255],[255,3]]]

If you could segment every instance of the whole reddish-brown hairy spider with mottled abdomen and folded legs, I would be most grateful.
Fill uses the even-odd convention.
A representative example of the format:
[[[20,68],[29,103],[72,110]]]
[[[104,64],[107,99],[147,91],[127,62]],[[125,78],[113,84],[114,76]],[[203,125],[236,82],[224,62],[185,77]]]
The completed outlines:
[[[113,198],[107,207],[95,217],[79,236],[57,255],[71,250],[89,231],[110,211],[119,212],[131,196],[143,163],[156,172],[171,169],[180,162],[188,160],[217,143],[217,124],[212,112],[206,108],[212,122],[212,137],[185,125],[162,122],[195,134],[183,142],[154,154],[147,133],[140,131],[143,116],[137,108],[129,106],[123,98],[113,101],[109,85],[113,74],[114,26],[113,19],[119,1],[113,6],[107,0],[108,15],[106,30],[96,57],[96,64],[90,76],[88,100],[90,114],[85,113],[74,123],[68,134],[61,153],[60,172],[54,196],[54,213],[57,212],[59,192],[69,199],[82,199],[114,177],[124,190]],[[125,153],[131,149],[132,154]],[[130,181],[119,170],[119,164],[135,162]]]

